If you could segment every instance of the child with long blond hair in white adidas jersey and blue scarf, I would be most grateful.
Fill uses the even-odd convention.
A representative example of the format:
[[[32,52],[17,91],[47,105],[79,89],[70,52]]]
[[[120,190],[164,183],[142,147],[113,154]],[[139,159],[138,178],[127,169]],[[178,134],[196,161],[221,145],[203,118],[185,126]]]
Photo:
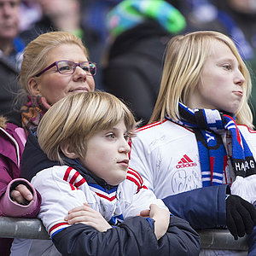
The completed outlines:
[[[166,50],[149,124],[131,144],[131,169],[171,212],[195,228],[227,225],[235,239],[256,224],[250,91],[249,72],[229,37],[178,35]]]

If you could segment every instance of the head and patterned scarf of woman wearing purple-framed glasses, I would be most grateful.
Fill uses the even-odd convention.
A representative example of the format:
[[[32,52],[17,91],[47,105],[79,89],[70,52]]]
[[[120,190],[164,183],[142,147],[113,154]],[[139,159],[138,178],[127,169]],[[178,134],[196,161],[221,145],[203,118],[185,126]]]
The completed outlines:
[[[20,71],[20,84],[27,102],[21,108],[26,130],[38,126],[49,107],[70,93],[91,91],[96,64],[80,39],[68,32],[49,32],[27,45]],[[33,115],[33,118],[32,116]]]

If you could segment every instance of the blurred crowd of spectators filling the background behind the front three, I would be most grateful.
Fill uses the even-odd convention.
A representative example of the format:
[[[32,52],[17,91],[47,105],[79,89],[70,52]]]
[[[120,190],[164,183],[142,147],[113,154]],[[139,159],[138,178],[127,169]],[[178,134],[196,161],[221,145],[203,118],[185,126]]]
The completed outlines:
[[[195,30],[224,32],[251,71],[256,117],[256,0],[0,0],[0,12],[0,113],[13,122],[19,123],[10,109],[22,50],[49,31],[82,38],[97,63],[96,89],[122,98],[143,124],[154,108],[170,38]]]

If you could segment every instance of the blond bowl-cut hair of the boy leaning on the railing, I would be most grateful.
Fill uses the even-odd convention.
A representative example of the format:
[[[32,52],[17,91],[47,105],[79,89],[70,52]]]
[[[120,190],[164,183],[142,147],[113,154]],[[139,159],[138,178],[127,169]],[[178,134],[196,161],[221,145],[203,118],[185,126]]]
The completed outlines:
[[[128,134],[137,123],[131,111],[107,92],[80,92],[56,102],[38,125],[38,143],[50,160],[61,160],[61,143],[70,143],[79,157],[86,153],[86,141],[97,131],[124,120]]]

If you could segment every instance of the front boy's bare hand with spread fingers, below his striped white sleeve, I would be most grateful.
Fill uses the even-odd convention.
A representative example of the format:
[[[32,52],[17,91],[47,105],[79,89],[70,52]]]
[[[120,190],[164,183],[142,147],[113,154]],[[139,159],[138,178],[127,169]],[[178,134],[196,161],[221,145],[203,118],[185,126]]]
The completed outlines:
[[[70,210],[64,219],[68,224],[83,223],[100,232],[112,228],[112,226],[108,224],[108,221],[102,217],[102,214],[92,209],[87,203],[84,203],[81,207],[75,207]]]

